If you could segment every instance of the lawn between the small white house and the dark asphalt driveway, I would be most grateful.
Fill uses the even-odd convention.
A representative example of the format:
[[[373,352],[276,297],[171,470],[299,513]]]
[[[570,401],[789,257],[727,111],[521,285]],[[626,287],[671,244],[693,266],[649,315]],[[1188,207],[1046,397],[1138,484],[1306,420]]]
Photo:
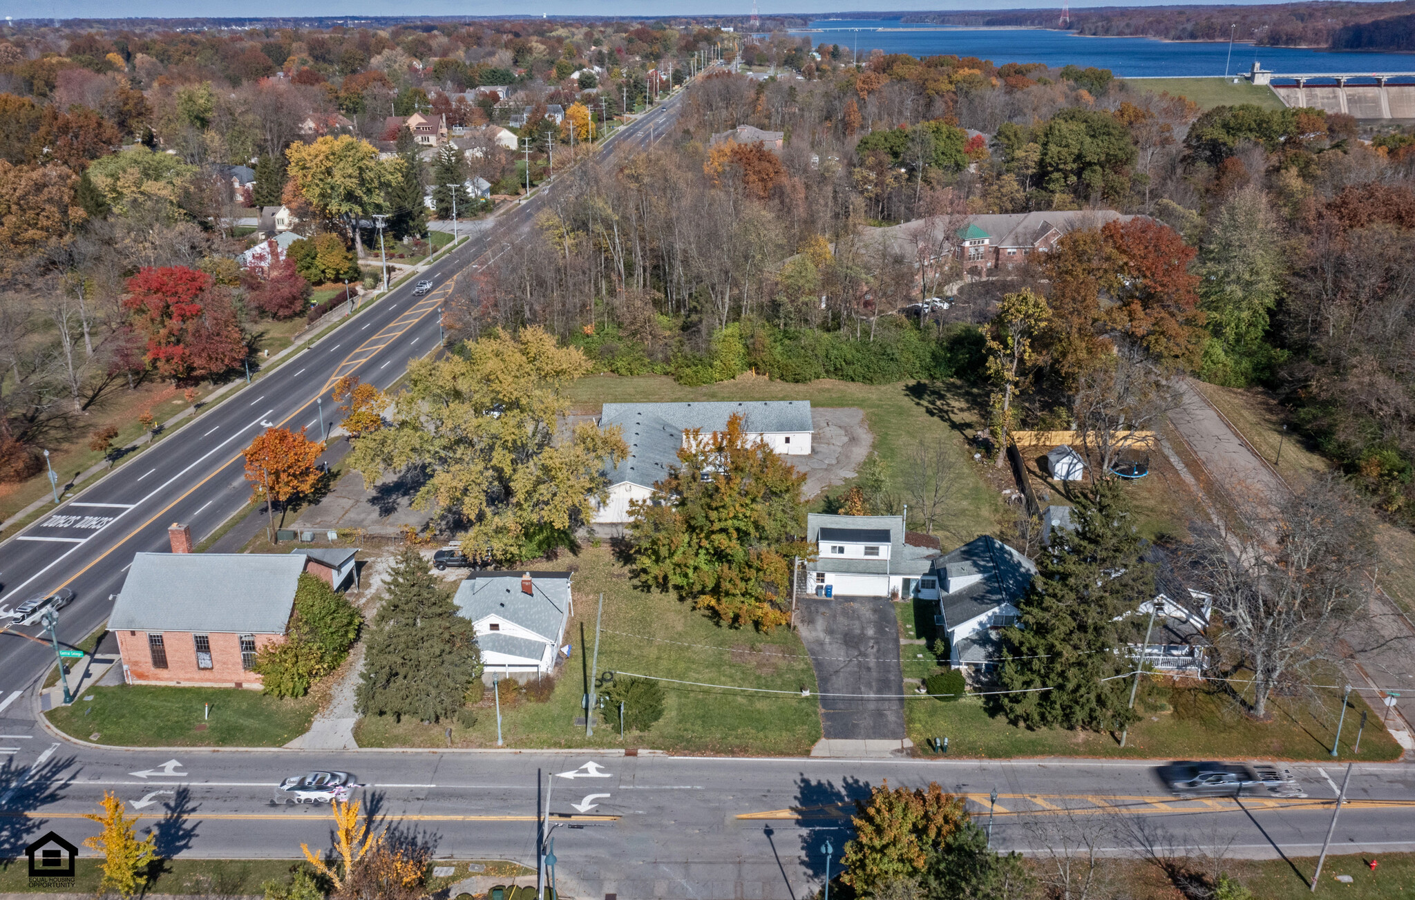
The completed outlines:
[[[821,737],[815,676],[795,633],[771,634],[730,630],[672,597],[642,593],[617,565],[608,546],[586,546],[577,558],[562,558],[548,567],[579,566],[574,575],[574,617],[566,641],[573,655],[562,664],[550,698],[542,703],[518,699],[502,708],[502,734],[508,747],[652,747],[685,753],[805,754]],[[664,717],[648,732],[630,732],[624,743],[618,729],[596,725],[594,737],[573,723],[580,712],[589,659],[593,650],[596,606],[604,592],[604,624],[599,671],[635,672],[746,688],[773,688],[792,693],[746,693],[692,685],[665,683]],[[584,627],[584,638],[580,627]],[[812,689],[811,698],[795,692]],[[492,692],[477,710],[471,729],[453,727],[453,744],[491,747],[497,740]],[[368,717],[354,734],[361,747],[447,746],[441,725],[405,719]]]

